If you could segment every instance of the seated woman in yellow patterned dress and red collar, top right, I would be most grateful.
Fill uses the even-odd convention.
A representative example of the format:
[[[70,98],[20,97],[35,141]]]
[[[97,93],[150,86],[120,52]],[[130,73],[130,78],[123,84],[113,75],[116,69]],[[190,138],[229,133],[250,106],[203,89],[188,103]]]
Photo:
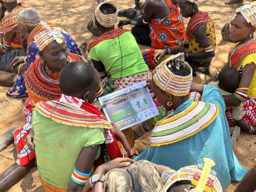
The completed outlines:
[[[183,52],[194,75],[197,71],[210,75],[209,67],[216,48],[215,27],[208,13],[199,11],[197,4],[198,0],[178,0],[182,16],[190,17],[186,30],[188,47]],[[175,49],[166,49],[156,54],[156,61],[165,54],[176,53]]]

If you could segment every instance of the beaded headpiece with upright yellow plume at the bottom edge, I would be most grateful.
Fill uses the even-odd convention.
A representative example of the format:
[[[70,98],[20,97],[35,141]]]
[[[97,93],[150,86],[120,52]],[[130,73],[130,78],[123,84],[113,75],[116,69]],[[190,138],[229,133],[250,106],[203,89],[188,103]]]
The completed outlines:
[[[215,162],[209,158],[203,160],[204,164],[186,166],[172,174],[165,183],[163,191],[166,192],[176,182],[190,181],[195,188],[185,189],[186,192],[222,192],[220,181],[215,176],[216,173],[211,170],[211,166],[215,166]]]

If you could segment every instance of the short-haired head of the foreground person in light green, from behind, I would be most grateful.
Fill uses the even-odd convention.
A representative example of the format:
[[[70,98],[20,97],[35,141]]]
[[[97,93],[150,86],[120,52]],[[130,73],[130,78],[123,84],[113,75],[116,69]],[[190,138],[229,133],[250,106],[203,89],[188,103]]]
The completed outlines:
[[[61,70],[59,86],[65,95],[93,103],[99,84],[99,74],[88,62],[70,62]]]

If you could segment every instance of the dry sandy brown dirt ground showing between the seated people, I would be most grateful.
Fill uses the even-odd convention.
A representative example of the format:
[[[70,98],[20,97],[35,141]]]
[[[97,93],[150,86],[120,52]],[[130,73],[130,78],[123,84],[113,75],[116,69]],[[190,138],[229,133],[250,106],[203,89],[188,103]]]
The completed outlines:
[[[43,20],[49,22],[55,22],[60,27],[65,29],[76,42],[80,45],[82,42],[89,42],[94,37],[87,31],[86,26],[89,19],[94,17],[94,10],[96,7],[96,1],[79,0],[79,1],[35,1],[25,0],[26,3],[34,7],[39,11]],[[114,1],[118,8],[134,7],[134,1]],[[202,11],[208,11],[212,20],[214,21],[217,34],[217,50],[216,57],[212,61],[211,72],[215,72],[216,69],[221,68],[227,61],[227,52],[232,45],[231,42],[221,40],[221,28],[229,22],[232,12],[237,5],[224,5],[224,0],[201,0],[199,3],[199,9]],[[129,28],[129,27],[127,27]],[[141,46],[142,49],[145,47]],[[8,130],[12,126],[20,126],[24,122],[24,103],[21,99],[12,99],[9,103],[3,101],[3,92],[7,88],[0,87],[0,134]],[[19,111],[19,108],[20,111]],[[3,117],[3,115],[5,117]],[[146,134],[143,138],[136,141],[136,147],[139,151],[148,146],[148,139],[150,134]],[[4,170],[14,163],[14,155],[10,152],[13,146],[9,146],[7,150],[0,153],[0,174]],[[239,162],[249,168],[254,158],[256,157],[256,137],[246,133],[242,133],[240,140],[237,143],[237,149],[235,151]],[[218,162],[216,162],[218,164]],[[234,186],[237,183],[232,183],[226,189],[226,191],[233,191]],[[38,178],[37,168],[33,167],[29,174],[17,184],[12,186],[7,191],[43,191],[40,186]]]

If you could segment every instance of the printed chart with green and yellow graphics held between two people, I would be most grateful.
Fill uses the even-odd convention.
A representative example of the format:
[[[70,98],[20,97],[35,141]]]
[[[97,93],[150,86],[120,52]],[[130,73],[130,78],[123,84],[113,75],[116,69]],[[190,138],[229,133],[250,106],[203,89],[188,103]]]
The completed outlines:
[[[120,130],[159,115],[145,81],[99,98],[103,112]]]

